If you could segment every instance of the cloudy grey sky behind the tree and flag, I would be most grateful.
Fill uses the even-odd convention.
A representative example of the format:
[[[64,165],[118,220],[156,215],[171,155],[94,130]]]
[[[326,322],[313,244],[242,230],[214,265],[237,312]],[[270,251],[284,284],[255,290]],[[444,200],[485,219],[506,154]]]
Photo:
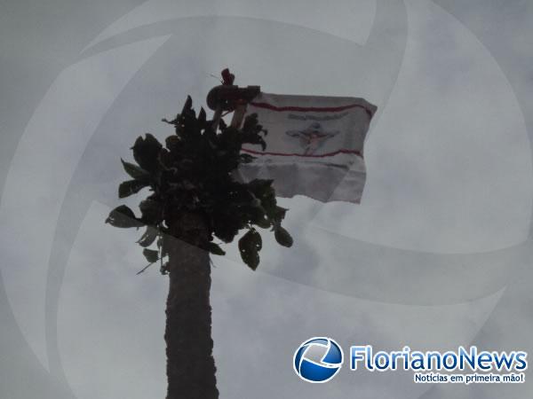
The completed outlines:
[[[519,385],[416,385],[403,372],[298,379],[313,336],[422,350],[533,342],[533,92],[527,1],[0,4],[0,394],[163,397],[167,281],[139,231],[103,221],[120,158],[241,85],[365,98],[362,203],[281,199],[290,250],[259,270],[213,257],[221,397],[532,397]],[[279,3],[279,4],[278,4]],[[139,198],[126,201],[131,207]]]

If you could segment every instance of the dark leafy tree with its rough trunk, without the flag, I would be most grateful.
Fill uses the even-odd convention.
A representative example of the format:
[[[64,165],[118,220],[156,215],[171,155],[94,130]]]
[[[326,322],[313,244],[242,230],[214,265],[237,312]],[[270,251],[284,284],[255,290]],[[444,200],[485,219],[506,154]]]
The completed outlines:
[[[239,239],[239,251],[243,262],[256,270],[262,246],[258,228],[274,231],[282,246],[292,245],[281,225],[287,209],[277,206],[272,180],[243,183],[232,174],[239,164],[253,160],[241,153],[243,144],[266,147],[267,132],[257,115],[247,116],[242,128],[227,126],[218,117],[208,121],[203,109],[196,115],[188,97],[182,112],[166,122],[175,134],[166,137],[164,146],[147,134],[131,147],[136,163],[122,160],[131,180],[120,184],[119,198],[145,187],[151,192],[139,204],[140,216],[122,205],[106,222],[146,227],[138,242],[148,266],[160,262],[161,272],[169,276],[167,399],[215,399],[219,391],[212,356],[210,253],[225,252],[214,240],[229,243],[247,230]]]

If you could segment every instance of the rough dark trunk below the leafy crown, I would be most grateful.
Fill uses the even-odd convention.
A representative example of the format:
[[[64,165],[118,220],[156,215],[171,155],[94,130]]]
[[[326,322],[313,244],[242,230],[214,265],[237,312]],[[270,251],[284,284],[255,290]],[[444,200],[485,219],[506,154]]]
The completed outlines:
[[[207,242],[209,232],[203,217],[195,214],[177,215],[169,227],[166,399],[218,399],[211,339],[211,265],[209,254],[198,247]]]

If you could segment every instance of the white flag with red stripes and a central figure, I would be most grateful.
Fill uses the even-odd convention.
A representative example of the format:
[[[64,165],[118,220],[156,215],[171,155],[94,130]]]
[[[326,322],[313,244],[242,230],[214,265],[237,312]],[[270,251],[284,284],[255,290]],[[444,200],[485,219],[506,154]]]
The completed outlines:
[[[243,181],[274,179],[279,197],[305,195],[359,203],[366,180],[363,145],[377,107],[362,98],[259,93],[246,113],[267,129],[267,148],[243,145],[255,159]]]

